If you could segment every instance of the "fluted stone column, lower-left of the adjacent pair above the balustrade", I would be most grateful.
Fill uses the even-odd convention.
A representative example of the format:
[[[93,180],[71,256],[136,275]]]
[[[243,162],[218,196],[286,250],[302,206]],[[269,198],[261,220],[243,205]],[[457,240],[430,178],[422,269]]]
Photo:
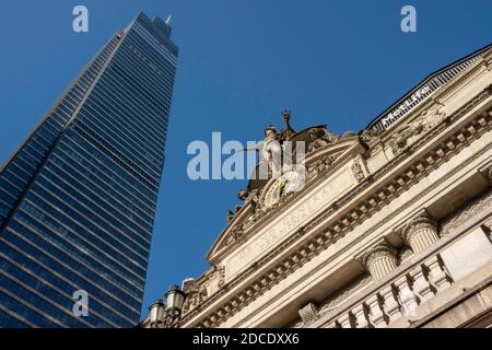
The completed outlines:
[[[364,253],[362,264],[374,280],[379,280],[397,268],[396,250],[380,243]]]

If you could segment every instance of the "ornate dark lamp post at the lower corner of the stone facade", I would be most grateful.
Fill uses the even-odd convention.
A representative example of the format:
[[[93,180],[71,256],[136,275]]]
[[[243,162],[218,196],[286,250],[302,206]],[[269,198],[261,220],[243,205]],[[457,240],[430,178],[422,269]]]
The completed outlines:
[[[165,294],[165,303],[159,299],[149,306],[151,328],[179,328],[186,293],[179,287],[173,285]]]

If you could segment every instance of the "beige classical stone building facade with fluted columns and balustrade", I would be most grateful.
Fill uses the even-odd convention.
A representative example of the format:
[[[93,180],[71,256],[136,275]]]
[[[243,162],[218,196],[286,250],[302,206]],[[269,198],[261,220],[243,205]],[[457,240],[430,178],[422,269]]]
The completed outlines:
[[[492,326],[492,46],[359,133],[291,131],[303,190],[249,182],[180,327]]]

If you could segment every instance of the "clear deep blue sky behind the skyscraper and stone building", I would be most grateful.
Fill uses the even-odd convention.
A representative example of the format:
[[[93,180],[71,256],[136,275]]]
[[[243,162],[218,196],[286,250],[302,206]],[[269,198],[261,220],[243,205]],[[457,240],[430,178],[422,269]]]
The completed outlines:
[[[84,4],[90,32],[71,30]],[[417,9],[418,32],[400,31]],[[429,73],[492,42],[492,1],[0,1],[0,163],[139,11],[173,15],[180,48],[143,311],[209,264],[244,180],[188,179],[192,140],[259,140],[289,108],[301,129],[359,131]]]

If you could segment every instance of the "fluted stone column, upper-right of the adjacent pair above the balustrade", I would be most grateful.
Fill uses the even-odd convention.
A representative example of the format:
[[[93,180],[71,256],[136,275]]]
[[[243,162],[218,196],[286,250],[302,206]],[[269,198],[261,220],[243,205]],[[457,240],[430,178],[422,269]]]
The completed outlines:
[[[440,238],[437,222],[426,213],[410,221],[402,230],[401,236],[414,254],[423,252]]]

